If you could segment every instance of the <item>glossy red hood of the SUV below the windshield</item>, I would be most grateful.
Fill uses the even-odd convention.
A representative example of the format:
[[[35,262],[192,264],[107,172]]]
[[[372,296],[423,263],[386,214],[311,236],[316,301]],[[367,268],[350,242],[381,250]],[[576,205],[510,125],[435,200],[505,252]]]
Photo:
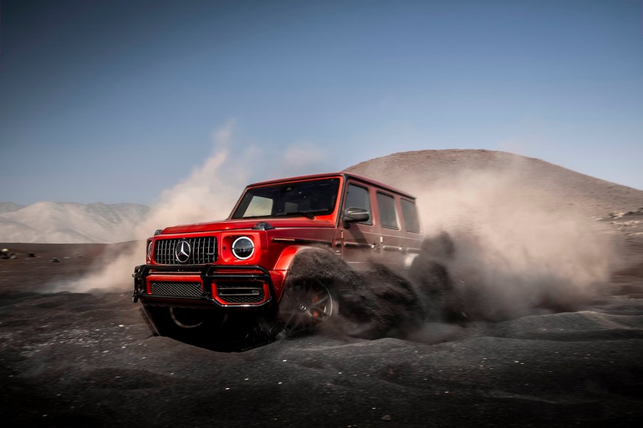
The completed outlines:
[[[166,227],[163,229],[163,234],[189,234],[192,232],[252,229],[257,223],[268,223],[275,229],[279,229],[280,227],[335,227],[335,224],[328,220],[289,217],[287,219],[240,219],[180,224],[179,226]]]

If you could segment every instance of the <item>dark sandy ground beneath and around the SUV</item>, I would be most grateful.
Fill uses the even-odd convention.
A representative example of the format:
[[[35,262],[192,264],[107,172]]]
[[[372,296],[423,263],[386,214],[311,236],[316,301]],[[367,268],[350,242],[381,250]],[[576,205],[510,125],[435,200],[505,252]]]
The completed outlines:
[[[117,244],[127,246],[128,244]],[[643,246],[586,308],[242,352],[154,337],[130,292],[51,293],[102,244],[0,244],[0,418],[43,427],[639,427]],[[34,257],[29,257],[29,253]],[[54,257],[58,262],[51,261]]]

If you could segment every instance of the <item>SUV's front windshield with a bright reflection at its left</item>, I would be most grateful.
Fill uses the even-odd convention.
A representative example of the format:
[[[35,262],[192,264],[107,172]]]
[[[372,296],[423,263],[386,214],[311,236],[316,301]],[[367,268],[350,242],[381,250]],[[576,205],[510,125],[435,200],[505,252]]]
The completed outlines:
[[[331,214],[335,209],[339,178],[254,187],[243,195],[232,219]]]

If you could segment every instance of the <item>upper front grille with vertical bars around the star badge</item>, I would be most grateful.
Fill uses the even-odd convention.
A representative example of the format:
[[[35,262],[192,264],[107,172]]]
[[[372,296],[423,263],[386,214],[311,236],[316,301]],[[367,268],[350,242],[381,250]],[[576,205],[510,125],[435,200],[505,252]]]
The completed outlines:
[[[175,250],[181,241],[190,244],[190,254],[185,262],[177,260]],[[154,244],[154,261],[158,264],[204,264],[217,261],[217,237],[157,239]]]

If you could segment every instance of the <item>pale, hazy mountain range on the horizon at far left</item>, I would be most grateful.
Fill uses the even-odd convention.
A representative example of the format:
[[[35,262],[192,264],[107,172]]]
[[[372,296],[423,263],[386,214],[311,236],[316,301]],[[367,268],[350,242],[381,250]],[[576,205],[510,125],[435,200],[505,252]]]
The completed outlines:
[[[138,204],[0,203],[0,242],[113,243],[134,239],[134,226],[149,212]]]

